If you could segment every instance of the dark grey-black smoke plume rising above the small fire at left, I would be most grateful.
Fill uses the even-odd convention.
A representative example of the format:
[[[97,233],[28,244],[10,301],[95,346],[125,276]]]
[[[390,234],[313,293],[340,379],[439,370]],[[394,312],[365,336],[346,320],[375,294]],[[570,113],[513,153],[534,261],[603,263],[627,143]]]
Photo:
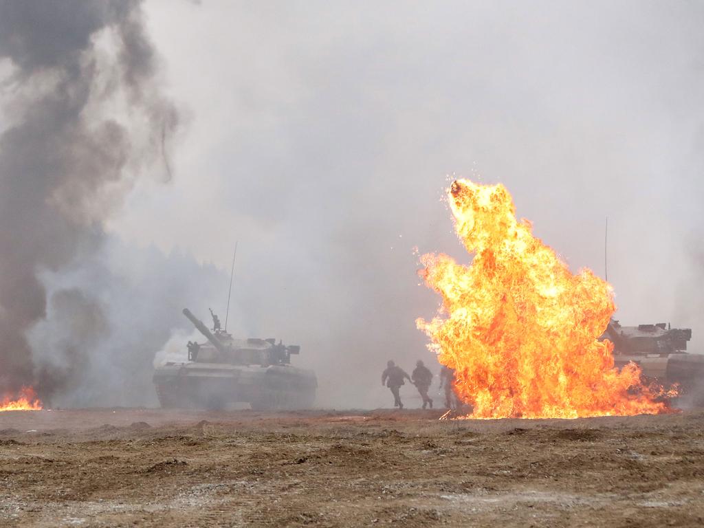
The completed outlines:
[[[68,364],[37,367],[27,332],[47,310],[38,273],[94,254],[147,169],[170,177],[178,115],[156,85],[140,1],[0,1],[0,67],[11,100],[0,137],[0,394],[37,384],[48,398],[80,375],[106,320],[84,292],[54,291]]]

